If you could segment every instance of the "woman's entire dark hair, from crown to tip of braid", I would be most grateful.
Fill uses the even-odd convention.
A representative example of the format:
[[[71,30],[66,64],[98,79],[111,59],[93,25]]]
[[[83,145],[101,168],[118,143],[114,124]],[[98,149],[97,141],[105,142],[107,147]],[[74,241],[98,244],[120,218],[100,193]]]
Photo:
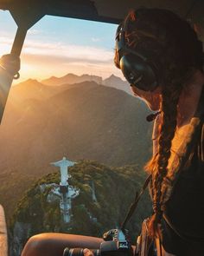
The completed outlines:
[[[165,207],[163,181],[168,174],[178,102],[182,89],[193,78],[194,71],[202,71],[202,43],[191,25],[169,10],[133,10],[126,19],[129,20],[125,39],[129,47],[156,62],[162,78],[158,148],[145,167],[152,174],[154,214],[149,227],[150,235],[155,237],[158,232],[157,224],[162,219]]]

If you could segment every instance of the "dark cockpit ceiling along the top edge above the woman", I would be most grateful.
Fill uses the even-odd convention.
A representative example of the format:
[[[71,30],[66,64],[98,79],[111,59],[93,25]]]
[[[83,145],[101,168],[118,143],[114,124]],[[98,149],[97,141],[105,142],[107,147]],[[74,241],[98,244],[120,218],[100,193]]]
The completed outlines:
[[[138,7],[156,7],[175,11],[180,16],[203,22],[203,0],[0,0],[0,9],[30,9],[44,15],[67,16],[107,23],[119,23],[127,12]]]

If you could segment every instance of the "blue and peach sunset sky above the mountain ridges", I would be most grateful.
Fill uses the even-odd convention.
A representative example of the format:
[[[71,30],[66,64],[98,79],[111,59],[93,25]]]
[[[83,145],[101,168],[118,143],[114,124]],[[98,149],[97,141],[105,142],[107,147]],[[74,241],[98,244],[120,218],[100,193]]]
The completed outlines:
[[[16,23],[9,11],[0,10],[0,56],[10,53]],[[116,24],[98,23],[58,16],[44,16],[29,29],[21,55],[20,79],[41,81],[50,76],[114,74]]]

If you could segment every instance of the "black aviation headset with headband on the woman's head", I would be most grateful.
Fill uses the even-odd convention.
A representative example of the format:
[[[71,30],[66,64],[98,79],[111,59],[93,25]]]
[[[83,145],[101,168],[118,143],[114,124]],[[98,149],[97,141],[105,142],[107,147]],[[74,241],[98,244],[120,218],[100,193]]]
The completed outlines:
[[[116,54],[118,55],[118,67],[131,86],[144,91],[153,91],[159,83],[159,69],[150,57],[131,49],[125,40],[129,17],[124,23],[119,24],[116,32]]]

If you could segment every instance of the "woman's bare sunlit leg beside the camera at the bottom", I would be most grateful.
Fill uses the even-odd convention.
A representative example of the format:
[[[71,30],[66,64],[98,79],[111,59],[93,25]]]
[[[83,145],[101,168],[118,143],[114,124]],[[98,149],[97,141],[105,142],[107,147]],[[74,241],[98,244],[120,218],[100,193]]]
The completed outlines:
[[[65,247],[97,249],[103,239],[67,233],[41,233],[29,239],[22,256],[62,256]]]

